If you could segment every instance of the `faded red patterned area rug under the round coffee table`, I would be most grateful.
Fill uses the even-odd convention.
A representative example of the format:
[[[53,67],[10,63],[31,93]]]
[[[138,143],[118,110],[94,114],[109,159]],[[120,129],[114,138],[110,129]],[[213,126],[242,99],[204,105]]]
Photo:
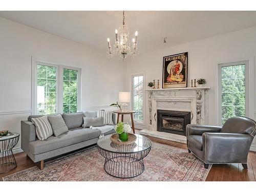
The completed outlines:
[[[114,178],[104,172],[104,158],[97,146],[4,177],[4,181],[205,181],[210,167],[187,150],[152,143],[144,159],[145,170],[132,179]]]

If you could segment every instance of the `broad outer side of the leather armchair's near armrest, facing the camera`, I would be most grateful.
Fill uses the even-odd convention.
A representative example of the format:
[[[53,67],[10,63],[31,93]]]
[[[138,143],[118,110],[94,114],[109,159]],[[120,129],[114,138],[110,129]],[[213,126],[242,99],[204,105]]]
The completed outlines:
[[[204,133],[205,163],[246,163],[253,136],[233,133]]]

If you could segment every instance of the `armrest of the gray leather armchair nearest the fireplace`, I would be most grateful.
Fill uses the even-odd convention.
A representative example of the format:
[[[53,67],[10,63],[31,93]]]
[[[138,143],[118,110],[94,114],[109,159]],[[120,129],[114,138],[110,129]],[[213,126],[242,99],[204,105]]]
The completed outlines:
[[[219,133],[221,131],[221,126],[211,126],[211,125],[197,125],[188,124],[186,126],[186,132],[188,135],[203,135],[203,133]]]

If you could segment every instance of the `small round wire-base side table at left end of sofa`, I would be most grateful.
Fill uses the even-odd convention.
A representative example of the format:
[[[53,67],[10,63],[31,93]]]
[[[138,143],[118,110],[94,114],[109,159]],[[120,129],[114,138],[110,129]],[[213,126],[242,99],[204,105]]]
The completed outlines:
[[[0,174],[9,172],[17,166],[12,149],[17,144],[19,133],[0,137]]]

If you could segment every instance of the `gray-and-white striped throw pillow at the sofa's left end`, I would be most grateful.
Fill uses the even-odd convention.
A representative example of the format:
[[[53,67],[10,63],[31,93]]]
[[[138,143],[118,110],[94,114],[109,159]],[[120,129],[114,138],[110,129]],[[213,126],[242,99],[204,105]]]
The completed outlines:
[[[31,121],[35,124],[35,134],[39,140],[43,141],[53,135],[47,116],[31,118]]]

